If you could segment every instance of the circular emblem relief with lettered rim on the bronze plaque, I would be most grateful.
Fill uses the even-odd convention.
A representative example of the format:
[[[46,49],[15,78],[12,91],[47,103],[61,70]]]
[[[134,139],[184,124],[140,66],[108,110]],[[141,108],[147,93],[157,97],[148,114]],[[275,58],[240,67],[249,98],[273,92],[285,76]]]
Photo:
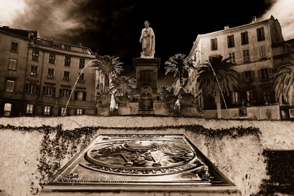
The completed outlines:
[[[191,147],[166,140],[123,140],[98,143],[85,153],[84,167],[124,175],[160,175],[197,168]]]

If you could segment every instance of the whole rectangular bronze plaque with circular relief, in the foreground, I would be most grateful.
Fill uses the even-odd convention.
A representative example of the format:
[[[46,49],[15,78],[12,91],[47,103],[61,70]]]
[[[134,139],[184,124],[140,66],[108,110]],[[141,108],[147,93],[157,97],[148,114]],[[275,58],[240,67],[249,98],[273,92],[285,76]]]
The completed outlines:
[[[46,186],[231,186],[184,135],[99,135]]]

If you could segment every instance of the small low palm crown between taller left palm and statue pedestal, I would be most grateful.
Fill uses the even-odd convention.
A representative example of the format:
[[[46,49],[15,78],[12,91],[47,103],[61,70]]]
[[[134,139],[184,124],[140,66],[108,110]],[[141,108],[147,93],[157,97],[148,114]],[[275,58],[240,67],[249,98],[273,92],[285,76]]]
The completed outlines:
[[[132,90],[136,88],[136,80],[126,76],[120,76],[112,82],[111,88],[116,89],[123,96],[129,97]]]

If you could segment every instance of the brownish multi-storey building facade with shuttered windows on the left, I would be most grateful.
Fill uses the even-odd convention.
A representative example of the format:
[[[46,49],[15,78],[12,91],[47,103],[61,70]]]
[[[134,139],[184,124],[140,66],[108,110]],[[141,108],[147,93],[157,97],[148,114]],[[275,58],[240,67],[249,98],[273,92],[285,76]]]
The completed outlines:
[[[5,33],[2,32],[1,36]],[[4,94],[15,94],[14,97],[10,95],[12,99],[23,101],[22,107],[18,107],[20,113],[13,113],[13,116],[94,114],[97,88],[103,88],[104,82],[99,82],[102,87],[97,86],[97,81],[102,81],[103,76],[87,67],[95,59],[90,49],[41,39],[39,36],[13,39],[5,37],[0,43],[1,49],[6,52],[1,63],[9,62],[1,65],[7,71],[7,74],[1,74],[1,77],[5,77],[1,78],[1,82],[7,86]],[[2,44],[3,40],[5,44]],[[14,41],[19,42],[17,57],[11,51],[14,49]],[[17,65],[11,71],[9,68],[13,60],[17,60]],[[15,88],[9,92],[13,73],[16,75]],[[4,110],[0,109],[1,112]]]

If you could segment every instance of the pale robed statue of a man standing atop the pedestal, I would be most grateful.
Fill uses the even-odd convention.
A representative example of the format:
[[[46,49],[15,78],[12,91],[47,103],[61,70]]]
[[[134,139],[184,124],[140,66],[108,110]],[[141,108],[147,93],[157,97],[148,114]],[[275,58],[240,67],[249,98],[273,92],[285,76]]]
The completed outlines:
[[[141,52],[141,57],[153,57],[155,53],[155,35],[153,29],[149,27],[149,22],[145,21],[145,28],[142,29],[142,34],[140,37],[140,43],[142,43],[143,52]]]

